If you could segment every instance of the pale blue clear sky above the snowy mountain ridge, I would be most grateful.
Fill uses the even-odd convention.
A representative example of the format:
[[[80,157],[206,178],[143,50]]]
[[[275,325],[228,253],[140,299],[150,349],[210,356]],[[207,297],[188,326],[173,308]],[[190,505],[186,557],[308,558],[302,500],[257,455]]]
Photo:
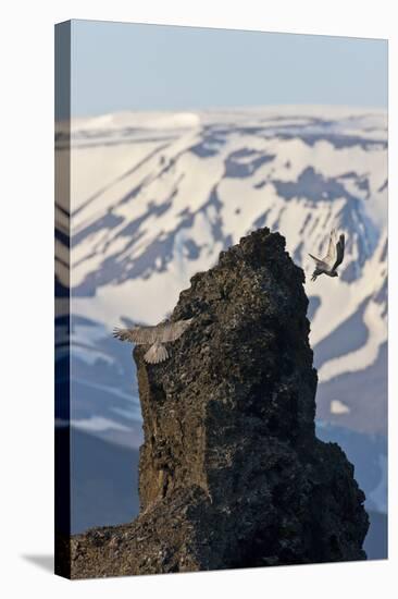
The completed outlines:
[[[387,41],[72,22],[72,114],[321,103],[387,107]]]

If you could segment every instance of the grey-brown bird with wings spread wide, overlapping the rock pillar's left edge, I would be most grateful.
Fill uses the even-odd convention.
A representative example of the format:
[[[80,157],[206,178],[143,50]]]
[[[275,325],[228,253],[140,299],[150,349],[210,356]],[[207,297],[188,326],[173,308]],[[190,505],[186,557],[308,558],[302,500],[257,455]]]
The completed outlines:
[[[154,327],[133,327],[132,329],[113,329],[113,337],[121,341],[129,341],[137,345],[150,345],[144,359],[148,364],[159,364],[169,357],[169,352],[164,346],[178,339],[192,322],[194,318],[188,320],[177,320],[176,322],[161,322]]]

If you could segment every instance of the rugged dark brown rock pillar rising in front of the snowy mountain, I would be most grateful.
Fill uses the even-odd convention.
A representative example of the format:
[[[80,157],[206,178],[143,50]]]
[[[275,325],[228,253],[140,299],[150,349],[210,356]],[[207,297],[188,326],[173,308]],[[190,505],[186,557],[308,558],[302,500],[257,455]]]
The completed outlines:
[[[314,436],[303,280],[256,231],[182,292],[172,320],[195,320],[169,360],[135,349],[140,515],[73,537],[72,577],[365,559],[353,467]]]

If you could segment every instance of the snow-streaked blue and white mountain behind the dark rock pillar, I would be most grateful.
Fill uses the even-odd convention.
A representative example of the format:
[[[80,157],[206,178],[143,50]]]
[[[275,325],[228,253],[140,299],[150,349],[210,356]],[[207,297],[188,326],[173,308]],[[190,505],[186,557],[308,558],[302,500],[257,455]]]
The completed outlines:
[[[67,149],[62,126],[57,148]],[[71,197],[71,215],[59,207],[57,218],[60,231],[71,223],[72,271],[60,234],[58,282],[67,286],[71,277],[82,428],[117,436],[119,427],[123,436],[121,427],[139,420],[130,347],[111,339],[113,326],[158,322],[192,274],[266,225],[286,237],[307,274],[320,424],[368,439],[386,433],[384,111],[278,107],[77,120]],[[322,256],[333,227],[347,237],[340,277],[313,283],[308,253]]]

